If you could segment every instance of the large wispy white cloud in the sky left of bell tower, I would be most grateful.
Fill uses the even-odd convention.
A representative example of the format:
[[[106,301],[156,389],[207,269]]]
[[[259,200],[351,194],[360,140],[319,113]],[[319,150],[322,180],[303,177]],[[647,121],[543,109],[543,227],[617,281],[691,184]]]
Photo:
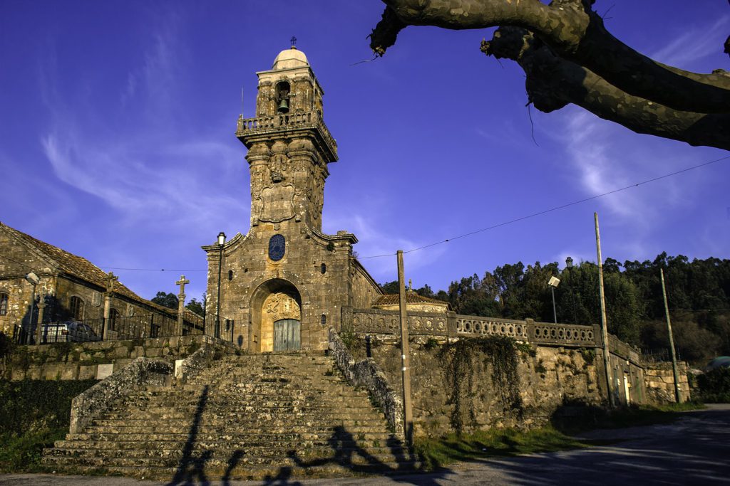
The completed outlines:
[[[110,117],[101,106],[95,108],[93,97],[99,93],[93,87],[91,92],[58,93],[55,79],[63,66],[50,51],[40,77],[50,112],[42,150],[58,179],[99,197],[128,225],[164,221],[208,229],[226,216],[245,222],[247,215],[239,213],[247,210],[246,194],[234,190],[239,186],[231,177],[242,169],[242,154],[219,138],[185,130],[176,101],[185,82],[183,21],[174,12],[161,17],[138,66],[119,87],[120,107],[134,111],[134,125]],[[101,93],[105,90],[108,86]]]

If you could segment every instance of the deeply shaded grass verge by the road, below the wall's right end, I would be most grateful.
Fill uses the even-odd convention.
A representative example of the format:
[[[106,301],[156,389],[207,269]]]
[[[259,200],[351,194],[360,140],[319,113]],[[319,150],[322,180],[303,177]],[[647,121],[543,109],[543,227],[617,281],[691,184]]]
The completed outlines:
[[[672,423],[680,418],[680,412],[704,408],[696,401],[666,405],[630,405],[607,409],[603,407],[572,407],[573,413],[558,411],[550,420],[553,427],[564,434],[578,434],[596,428],[626,428]]]

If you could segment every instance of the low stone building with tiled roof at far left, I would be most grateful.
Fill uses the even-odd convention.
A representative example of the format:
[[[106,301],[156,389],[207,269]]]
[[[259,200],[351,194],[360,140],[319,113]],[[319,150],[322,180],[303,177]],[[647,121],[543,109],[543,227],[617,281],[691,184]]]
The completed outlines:
[[[39,278],[35,289],[26,280],[31,272]],[[170,309],[139,297],[123,283],[115,281],[111,291],[109,285],[110,274],[87,259],[0,222],[0,332],[12,336],[18,332],[16,326],[34,328],[39,321],[96,320],[101,324],[107,297],[107,337],[114,337],[115,323],[123,318],[171,315]],[[36,305],[31,320],[34,294]]]

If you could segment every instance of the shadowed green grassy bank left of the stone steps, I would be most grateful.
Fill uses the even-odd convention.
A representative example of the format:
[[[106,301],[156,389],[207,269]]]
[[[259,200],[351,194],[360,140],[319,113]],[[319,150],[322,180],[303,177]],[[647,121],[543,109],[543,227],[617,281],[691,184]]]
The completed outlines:
[[[44,447],[69,431],[71,400],[96,380],[0,380],[0,472],[41,469]]]

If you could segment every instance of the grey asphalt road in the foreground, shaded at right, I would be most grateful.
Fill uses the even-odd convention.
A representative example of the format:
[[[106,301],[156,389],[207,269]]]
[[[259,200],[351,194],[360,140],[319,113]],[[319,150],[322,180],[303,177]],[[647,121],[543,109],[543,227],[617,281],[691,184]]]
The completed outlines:
[[[593,431],[609,446],[460,463],[447,471],[401,477],[231,481],[226,485],[730,485],[730,404],[685,412],[669,425]],[[605,442],[604,442],[605,443]],[[173,483],[120,477],[5,474],[0,485],[132,486]],[[174,483],[174,486],[191,483]],[[218,485],[220,482],[211,482]]]

